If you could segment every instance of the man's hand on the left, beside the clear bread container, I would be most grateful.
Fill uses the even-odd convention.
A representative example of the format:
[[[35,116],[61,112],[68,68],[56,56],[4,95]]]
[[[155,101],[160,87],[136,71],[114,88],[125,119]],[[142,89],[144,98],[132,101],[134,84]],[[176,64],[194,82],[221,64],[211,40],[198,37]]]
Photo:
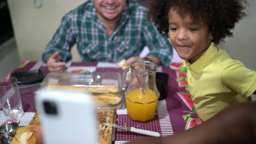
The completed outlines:
[[[50,72],[66,72],[66,62],[60,62],[59,52],[48,56],[46,58],[47,67]]]

